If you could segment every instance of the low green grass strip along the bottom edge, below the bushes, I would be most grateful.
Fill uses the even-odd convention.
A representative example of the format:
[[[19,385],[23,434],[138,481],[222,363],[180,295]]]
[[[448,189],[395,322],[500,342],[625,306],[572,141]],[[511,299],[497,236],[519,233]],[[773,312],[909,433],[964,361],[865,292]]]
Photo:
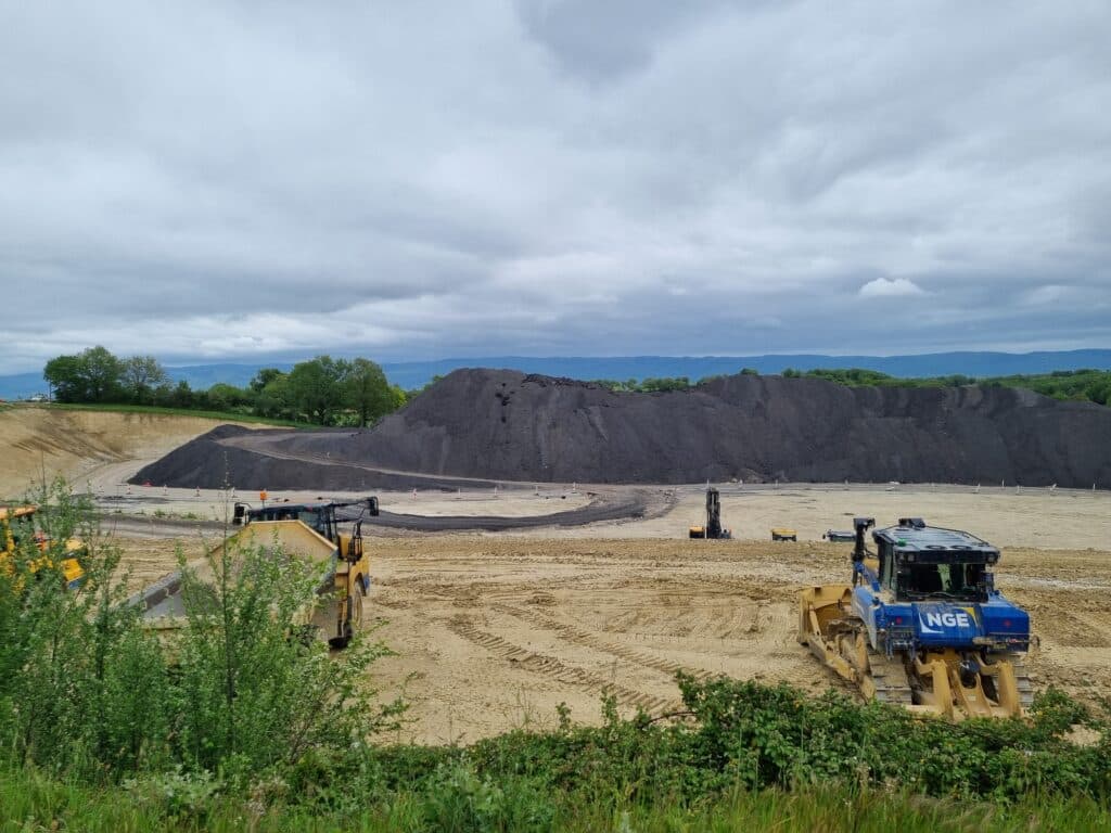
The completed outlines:
[[[343,784],[336,791],[342,793]],[[89,833],[146,831],[251,830],[259,833],[306,831],[510,831],[543,830],[587,833],[694,833],[695,831],[775,830],[783,833],[948,833],[978,831],[1107,831],[1111,815],[1087,800],[1025,800],[998,805],[974,801],[934,800],[883,790],[847,785],[813,786],[795,792],[732,791],[714,801],[684,806],[667,796],[648,803],[580,803],[556,797],[554,814],[530,822],[527,802],[510,817],[486,819],[460,807],[444,814],[442,802],[429,793],[407,792],[389,801],[349,794],[347,809],[330,810],[268,801],[206,795],[161,794],[142,784],[82,786],[34,770],[0,771],[0,833],[11,831],[80,830]],[[471,807],[473,809],[473,807]]]

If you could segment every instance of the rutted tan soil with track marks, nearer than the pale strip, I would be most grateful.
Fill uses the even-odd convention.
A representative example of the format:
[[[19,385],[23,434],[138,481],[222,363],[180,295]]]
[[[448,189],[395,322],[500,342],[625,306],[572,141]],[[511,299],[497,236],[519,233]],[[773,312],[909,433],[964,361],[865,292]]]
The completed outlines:
[[[149,580],[169,542],[120,539]],[[838,686],[795,642],[801,585],[849,575],[845,545],[821,542],[567,540],[480,534],[376,538],[368,619],[396,656],[368,684],[401,693],[397,740],[466,742],[572,716],[679,707],[675,670]],[[199,542],[187,554],[199,552]],[[161,566],[159,559],[163,559]],[[139,579],[140,576],[137,576]],[[999,586],[1030,611],[1037,689],[1111,695],[1111,553],[1008,549]]]

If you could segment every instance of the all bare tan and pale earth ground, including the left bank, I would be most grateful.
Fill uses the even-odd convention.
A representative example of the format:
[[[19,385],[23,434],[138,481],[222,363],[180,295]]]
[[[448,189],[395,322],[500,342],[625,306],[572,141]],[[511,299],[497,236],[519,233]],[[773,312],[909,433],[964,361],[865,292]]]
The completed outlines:
[[[0,413],[8,449],[0,493],[17,499],[42,474],[90,491],[103,532],[138,589],[197,558],[222,534],[230,491],[127,486],[146,462],[209,430],[200,419],[34,409]],[[565,702],[600,719],[607,690],[628,710],[679,705],[678,669],[787,681],[812,692],[838,683],[795,642],[797,594],[847,581],[848,544],[821,541],[854,514],[880,525],[918,515],[1003,548],[997,583],[1025,608],[1041,645],[1035,690],[1058,685],[1090,703],[1111,696],[1111,493],[970,485],[717,484],[733,541],[691,541],[703,486],[637,486],[627,518],[524,531],[427,533],[368,528],[376,569],[367,614],[397,654],[368,685],[402,693],[410,722],[396,740],[466,742],[551,726]],[[492,490],[381,494],[396,514],[540,516],[589,508],[623,486],[506,484]],[[632,489],[632,488],[629,488]],[[590,494],[594,492],[594,494]],[[271,500],[347,495],[283,492]],[[633,505],[631,503],[630,505]],[[542,519],[541,519],[542,520]],[[433,524],[434,525],[434,524]],[[772,543],[769,529],[798,531]]]

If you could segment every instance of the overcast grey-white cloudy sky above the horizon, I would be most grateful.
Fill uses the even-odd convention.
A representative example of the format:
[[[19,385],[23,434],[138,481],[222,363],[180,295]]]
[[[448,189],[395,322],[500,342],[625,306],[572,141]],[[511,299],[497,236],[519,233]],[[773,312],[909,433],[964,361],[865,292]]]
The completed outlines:
[[[0,0],[0,372],[1111,347],[1111,4]]]

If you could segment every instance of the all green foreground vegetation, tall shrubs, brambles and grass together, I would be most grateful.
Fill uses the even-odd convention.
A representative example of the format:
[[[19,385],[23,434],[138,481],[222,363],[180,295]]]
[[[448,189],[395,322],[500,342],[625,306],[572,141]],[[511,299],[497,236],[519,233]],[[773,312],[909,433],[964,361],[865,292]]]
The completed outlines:
[[[326,566],[274,545],[182,559],[184,618],[143,626],[88,501],[34,500],[0,569],[3,831],[1111,831],[1111,706],[919,720],[843,694],[677,675],[683,711],[389,744],[373,633],[330,654],[300,612]],[[38,515],[37,515],[38,518]],[[86,582],[59,564],[74,532]],[[1077,732],[1083,726],[1083,732]]]

